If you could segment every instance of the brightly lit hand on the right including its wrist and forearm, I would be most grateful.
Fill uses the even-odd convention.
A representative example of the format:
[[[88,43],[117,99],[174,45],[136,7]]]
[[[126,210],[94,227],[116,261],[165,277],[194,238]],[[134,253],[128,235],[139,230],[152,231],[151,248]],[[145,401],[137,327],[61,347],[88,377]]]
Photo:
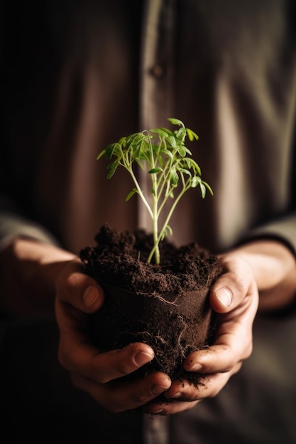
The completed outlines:
[[[278,309],[295,297],[296,262],[283,244],[261,240],[221,255],[224,274],[209,295],[216,312],[216,336],[211,347],[191,353],[185,370],[200,372],[199,387],[173,382],[168,404],[150,403],[148,413],[175,414],[192,409],[200,400],[216,396],[252,352],[253,320],[258,309]],[[279,296],[280,295],[280,296]]]

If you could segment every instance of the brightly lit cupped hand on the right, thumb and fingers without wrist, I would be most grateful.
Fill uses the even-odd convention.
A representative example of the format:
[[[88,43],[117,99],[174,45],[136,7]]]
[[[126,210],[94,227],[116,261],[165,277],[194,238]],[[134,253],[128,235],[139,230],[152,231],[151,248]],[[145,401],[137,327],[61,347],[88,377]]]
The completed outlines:
[[[175,414],[192,409],[200,400],[216,396],[229,378],[238,372],[243,360],[252,352],[252,328],[258,309],[258,289],[253,271],[242,257],[221,257],[224,273],[209,294],[215,311],[214,343],[190,353],[185,370],[202,374],[199,384],[172,382],[165,392],[168,402],[150,402],[145,411],[150,414]]]

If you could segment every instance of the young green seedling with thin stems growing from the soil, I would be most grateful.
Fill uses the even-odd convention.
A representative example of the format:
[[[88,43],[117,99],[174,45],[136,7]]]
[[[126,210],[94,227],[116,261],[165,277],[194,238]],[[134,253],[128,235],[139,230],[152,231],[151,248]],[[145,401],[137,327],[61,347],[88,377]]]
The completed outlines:
[[[155,128],[133,133],[122,137],[116,143],[111,143],[97,157],[97,160],[103,155],[109,160],[115,157],[114,162],[108,165],[108,179],[111,179],[119,166],[124,167],[131,175],[135,187],[126,196],[126,201],[131,199],[133,194],[138,194],[146,206],[153,223],[153,248],[147,262],[150,263],[154,258],[155,264],[158,265],[160,241],[168,233],[172,235],[170,218],[183,194],[197,186],[200,188],[202,198],[206,195],[207,189],[213,194],[209,184],[202,180],[199,165],[192,159],[192,153],[185,146],[186,138],[188,137],[190,141],[198,140],[197,134],[185,128],[184,123],[177,118],[168,118],[168,121],[180,128],[175,131]],[[148,203],[148,196],[144,195],[138,182],[134,172],[135,164],[141,169],[148,169],[151,178],[152,204]],[[159,228],[160,214],[167,202],[170,202],[168,214],[163,226]]]

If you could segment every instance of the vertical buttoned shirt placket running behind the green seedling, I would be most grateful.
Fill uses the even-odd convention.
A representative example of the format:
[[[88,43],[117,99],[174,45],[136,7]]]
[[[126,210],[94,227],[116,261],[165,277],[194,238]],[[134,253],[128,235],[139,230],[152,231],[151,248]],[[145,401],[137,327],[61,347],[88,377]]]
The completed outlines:
[[[165,126],[174,115],[173,103],[173,37],[175,0],[146,1],[144,9],[141,79],[140,126],[141,129]],[[151,204],[150,177],[147,170],[140,170],[140,182]],[[151,231],[152,222],[142,202],[138,205],[138,225]],[[143,421],[144,444],[168,444],[169,418],[145,415]]]

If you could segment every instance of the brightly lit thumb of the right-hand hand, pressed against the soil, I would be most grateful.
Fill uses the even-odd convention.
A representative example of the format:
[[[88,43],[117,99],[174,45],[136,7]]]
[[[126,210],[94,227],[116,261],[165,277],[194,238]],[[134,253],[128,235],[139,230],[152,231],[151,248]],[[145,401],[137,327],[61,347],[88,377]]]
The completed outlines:
[[[222,257],[221,262],[225,272],[214,282],[209,301],[217,313],[228,313],[241,304],[255,281],[251,267],[245,260]]]

